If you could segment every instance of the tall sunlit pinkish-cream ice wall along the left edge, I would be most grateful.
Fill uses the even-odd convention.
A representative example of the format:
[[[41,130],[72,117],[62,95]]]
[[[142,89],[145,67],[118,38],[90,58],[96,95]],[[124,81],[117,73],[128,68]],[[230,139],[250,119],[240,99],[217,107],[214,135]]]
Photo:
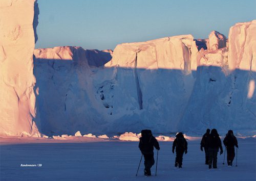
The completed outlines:
[[[39,13],[35,4],[34,0],[0,2],[0,135],[40,135],[33,120],[33,17]]]

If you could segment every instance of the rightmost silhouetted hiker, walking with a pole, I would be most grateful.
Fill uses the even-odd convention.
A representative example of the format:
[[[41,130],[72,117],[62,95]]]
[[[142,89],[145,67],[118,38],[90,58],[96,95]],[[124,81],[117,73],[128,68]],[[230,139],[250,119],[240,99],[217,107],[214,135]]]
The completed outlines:
[[[238,148],[238,140],[237,138],[233,135],[233,131],[229,130],[228,133],[226,134],[226,137],[223,140],[224,145],[226,146],[227,149],[227,165],[232,166],[233,160],[234,160],[234,146]]]

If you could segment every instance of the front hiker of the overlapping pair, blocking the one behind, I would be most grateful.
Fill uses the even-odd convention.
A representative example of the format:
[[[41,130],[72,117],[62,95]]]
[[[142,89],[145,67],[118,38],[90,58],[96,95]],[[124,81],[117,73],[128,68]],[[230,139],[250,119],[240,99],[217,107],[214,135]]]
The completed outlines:
[[[216,129],[212,129],[209,135],[209,139],[207,140],[207,147],[209,153],[209,169],[211,168],[211,164],[213,168],[217,168],[217,155],[219,152],[219,148],[221,150],[220,154],[223,153],[221,139]]]

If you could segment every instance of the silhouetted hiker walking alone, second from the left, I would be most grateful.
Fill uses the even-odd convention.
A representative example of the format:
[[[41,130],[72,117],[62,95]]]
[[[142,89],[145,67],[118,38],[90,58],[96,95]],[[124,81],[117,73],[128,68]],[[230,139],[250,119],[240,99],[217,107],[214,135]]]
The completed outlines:
[[[175,167],[179,165],[179,168],[182,168],[183,154],[187,153],[187,141],[184,138],[183,134],[180,132],[176,135],[176,138],[173,143],[173,153],[176,147],[176,159]]]

